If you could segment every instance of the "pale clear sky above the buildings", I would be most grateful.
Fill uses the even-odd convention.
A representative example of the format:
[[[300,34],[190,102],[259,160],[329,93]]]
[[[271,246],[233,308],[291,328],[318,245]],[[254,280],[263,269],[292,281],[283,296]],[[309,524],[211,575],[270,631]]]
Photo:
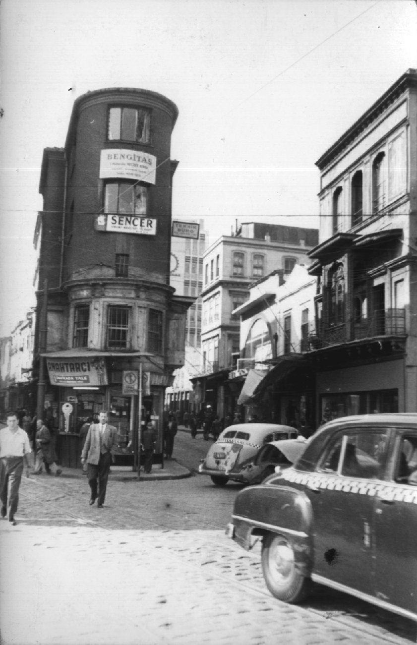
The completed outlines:
[[[318,227],[315,162],[408,68],[414,0],[0,0],[0,337],[36,304],[43,148],[74,100],[139,87],[179,108],[172,215]]]

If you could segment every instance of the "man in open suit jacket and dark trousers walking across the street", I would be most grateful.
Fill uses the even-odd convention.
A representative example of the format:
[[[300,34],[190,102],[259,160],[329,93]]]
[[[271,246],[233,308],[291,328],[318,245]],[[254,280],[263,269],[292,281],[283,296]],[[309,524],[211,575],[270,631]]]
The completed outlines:
[[[107,412],[100,412],[99,422],[91,424],[81,452],[81,464],[87,464],[87,479],[91,490],[90,506],[97,499],[98,508],[103,508],[108,472],[117,444],[117,430],[114,426],[109,426],[107,421]]]

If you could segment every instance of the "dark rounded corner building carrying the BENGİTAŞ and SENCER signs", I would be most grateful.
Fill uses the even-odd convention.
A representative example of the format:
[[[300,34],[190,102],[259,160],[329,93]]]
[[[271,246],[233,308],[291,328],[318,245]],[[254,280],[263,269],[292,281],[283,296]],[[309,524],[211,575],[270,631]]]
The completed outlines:
[[[101,410],[117,427],[120,464],[132,462],[139,416],[163,453],[164,393],[193,301],[169,284],[177,117],[156,92],[94,90],[76,99],[65,147],[43,152],[38,410],[40,392],[67,466],[78,465],[79,429]]]

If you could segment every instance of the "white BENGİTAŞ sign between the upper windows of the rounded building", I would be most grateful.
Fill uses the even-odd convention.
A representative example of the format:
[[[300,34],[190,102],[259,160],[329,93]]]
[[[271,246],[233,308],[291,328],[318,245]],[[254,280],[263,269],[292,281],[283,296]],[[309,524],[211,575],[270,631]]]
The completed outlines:
[[[137,150],[107,148],[100,154],[100,179],[135,179],[154,184],[156,157]]]

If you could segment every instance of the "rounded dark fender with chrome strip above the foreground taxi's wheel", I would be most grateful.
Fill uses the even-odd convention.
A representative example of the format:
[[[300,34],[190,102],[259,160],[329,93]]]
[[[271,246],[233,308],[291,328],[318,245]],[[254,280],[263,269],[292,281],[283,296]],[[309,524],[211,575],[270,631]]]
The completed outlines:
[[[243,548],[253,546],[253,536],[280,533],[292,539],[310,561],[312,553],[312,508],[307,495],[287,486],[249,486],[234,502],[234,539]]]

